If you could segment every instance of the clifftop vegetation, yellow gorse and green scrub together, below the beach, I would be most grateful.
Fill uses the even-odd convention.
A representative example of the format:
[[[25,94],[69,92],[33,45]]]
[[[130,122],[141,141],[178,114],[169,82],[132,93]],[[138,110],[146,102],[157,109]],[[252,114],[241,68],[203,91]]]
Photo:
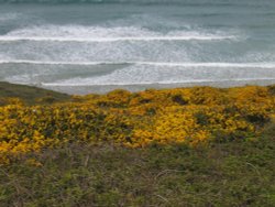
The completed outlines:
[[[274,86],[25,89],[0,96],[0,206],[274,206]]]

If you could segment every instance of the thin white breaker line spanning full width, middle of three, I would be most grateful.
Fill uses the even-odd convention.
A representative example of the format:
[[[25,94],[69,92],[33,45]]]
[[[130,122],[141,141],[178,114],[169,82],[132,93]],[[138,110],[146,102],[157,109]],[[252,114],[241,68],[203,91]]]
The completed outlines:
[[[275,63],[170,63],[170,62],[42,62],[28,59],[0,61],[0,64],[34,65],[148,65],[165,67],[274,68]]]

